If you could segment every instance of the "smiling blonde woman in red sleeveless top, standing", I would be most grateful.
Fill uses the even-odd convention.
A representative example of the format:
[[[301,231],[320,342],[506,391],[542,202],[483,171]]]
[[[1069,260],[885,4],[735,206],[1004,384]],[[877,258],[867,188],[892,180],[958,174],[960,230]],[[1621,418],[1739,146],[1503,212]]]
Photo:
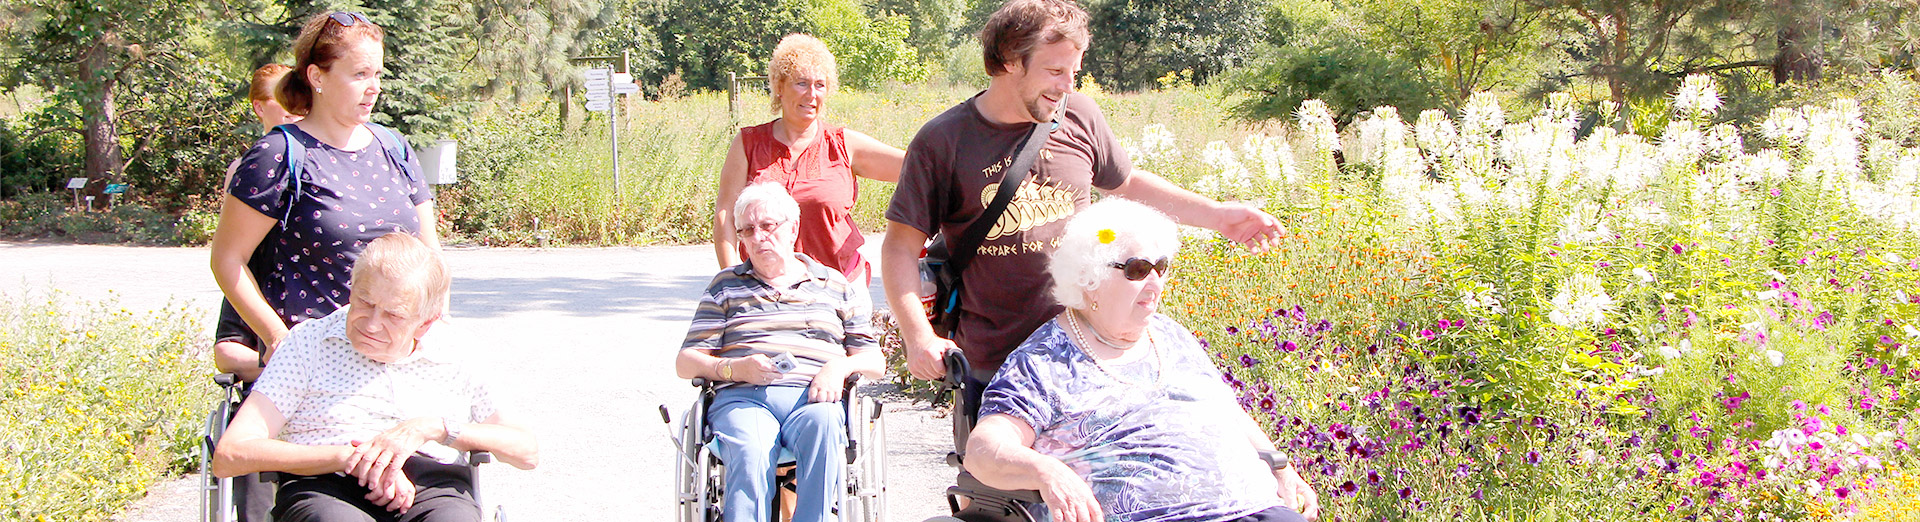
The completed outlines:
[[[852,203],[860,198],[854,177],[895,182],[900,178],[899,148],[852,129],[826,123],[826,100],[839,86],[833,54],[814,36],[787,35],[774,48],[766,84],[780,117],[741,127],[720,167],[714,202],[714,257],[720,267],[739,265],[733,234],[733,200],[753,182],[780,182],[801,202],[797,251],[866,284],[868,261],[860,257],[860,228]]]

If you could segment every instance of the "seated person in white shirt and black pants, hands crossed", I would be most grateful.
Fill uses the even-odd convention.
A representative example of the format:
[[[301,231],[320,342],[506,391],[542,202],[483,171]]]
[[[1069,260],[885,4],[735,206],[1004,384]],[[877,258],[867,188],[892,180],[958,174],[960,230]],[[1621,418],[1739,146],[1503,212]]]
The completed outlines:
[[[353,265],[348,307],[301,322],[213,451],[215,476],[278,472],[275,520],[480,520],[463,451],[534,468],[444,320],[440,253],[388,234]]]

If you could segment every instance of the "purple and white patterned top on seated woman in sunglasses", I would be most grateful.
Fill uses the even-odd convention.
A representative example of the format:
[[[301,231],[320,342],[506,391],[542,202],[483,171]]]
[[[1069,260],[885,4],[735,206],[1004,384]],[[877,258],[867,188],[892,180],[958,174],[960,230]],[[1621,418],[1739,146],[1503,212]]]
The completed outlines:
[[[1165,315],[1148,328],[1158,357],[1102,367],[1060,320],[1041,324],[987,384],[979,415],[1033,426],[1033,451],[1079,472],[1110,522],[1233,520],[1281,505],[1248,439],[1254,420],[1206,349]]]

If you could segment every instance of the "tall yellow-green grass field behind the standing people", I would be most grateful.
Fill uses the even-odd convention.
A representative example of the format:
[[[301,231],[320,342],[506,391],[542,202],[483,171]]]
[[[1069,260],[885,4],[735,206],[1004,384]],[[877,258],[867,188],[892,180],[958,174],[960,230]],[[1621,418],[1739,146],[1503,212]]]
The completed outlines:
[[[893,84],[843,90],[828,102],[828,121],[906,148],[927,121],[977,90]],[[1240,140],[1254,129],[1221,127],[1225,111],[1208,88],[1144,94],[1091,92],[1116,134],[1139,142],[1142,129],[1173,123],[1181,136]],[[459,134],[461,182],[442,188],[440,207],[455,240],[480,244],[695,244],[710,238],[714,182],[739,127],[776,117],[766,94],[745,94],[732,117],[724,92],[622,104],[620,186],[612,182],[607,113],[559,123],[553,104],[501,106],[476,115]],[[576,111],[578,113],[578,111]],[[1198,157],[1198,152],[1192,152]],[[1167,157],[1162,154],[1162,157]],[[1175,180],[1204,177],[1173,155],[1144,163]],[[1198,165],[1198,163],[1194,163]],[[860,180],[854,221],[885,226],[893,184]],[[534,221],[540,226],[534,226]]]

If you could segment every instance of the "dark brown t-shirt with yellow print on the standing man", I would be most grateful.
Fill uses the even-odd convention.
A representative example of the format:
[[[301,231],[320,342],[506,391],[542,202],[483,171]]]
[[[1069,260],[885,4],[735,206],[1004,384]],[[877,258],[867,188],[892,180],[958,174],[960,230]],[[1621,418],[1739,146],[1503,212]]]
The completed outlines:
[[[987,121],[973,107],[977,100],[979,94],[947,109],[914,134],[889,221],[927,236],[945,232],[954,242],[993,203],[1002,171],[1033,125]],[[1133,171],[1100,107],[1081,94],[1068,94],[1066,104],[1033,175],[960,274],[966,288],[954,344],[973,368],[998,368],[1027,334],[1060,315],[1046,257],[1060,244],[1066,219],[1087,205],[1092,186],[1117,188]]]

